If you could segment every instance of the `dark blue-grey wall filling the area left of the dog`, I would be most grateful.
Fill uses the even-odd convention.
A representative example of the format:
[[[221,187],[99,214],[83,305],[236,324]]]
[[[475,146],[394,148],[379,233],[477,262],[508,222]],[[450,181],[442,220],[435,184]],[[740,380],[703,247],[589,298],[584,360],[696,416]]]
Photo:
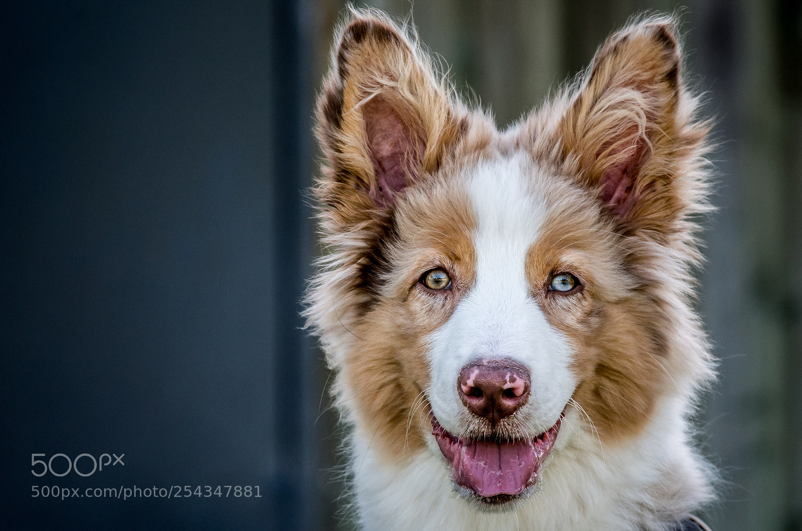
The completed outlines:
[[[4,8],[2,527],[326,526],[318,360],[298,330],[299,17],[296,2]],[[32,453],[59,452],[124,466],[31,474]],[[31,497],[135,484],[261,497]]]

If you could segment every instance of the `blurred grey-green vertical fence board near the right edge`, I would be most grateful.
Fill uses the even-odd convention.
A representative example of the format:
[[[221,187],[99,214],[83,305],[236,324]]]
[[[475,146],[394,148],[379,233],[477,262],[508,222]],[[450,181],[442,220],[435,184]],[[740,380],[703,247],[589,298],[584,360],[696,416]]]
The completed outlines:
[[[784,176],[784,108],[780,95],[777,26],[772,4],[743,2],[743,74],[739,97],[739,138],[743,142],[739,178],[743,181],[746,219],[748,302],[746,347],[749,367],[739,389],[750,422],[742,439],[747,442],[743,462],[750,462],[743,484],[755,497],[748,529],[785,529],[788,517],[786,492],[790,470],[785,460],[788,436],[784,407],[785,385],[790,383],[785,366],[784,315],[787,290],[774,282],[784,270],[788,189]],[[780,273],[779,278],[784,278]],[[768,281],[768,282],[767,282]],[[732,404],[736,405],[736,404]],[[751,418],[750,418],[751,417]]]

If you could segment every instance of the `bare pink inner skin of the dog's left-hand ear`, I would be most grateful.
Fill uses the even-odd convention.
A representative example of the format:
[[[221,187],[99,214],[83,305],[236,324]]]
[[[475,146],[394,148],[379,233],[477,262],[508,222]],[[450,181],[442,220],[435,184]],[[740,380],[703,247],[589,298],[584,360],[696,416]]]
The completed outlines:
[[[377,205],[389,206],[416,176],[423,161],[423,142],[407,132],[398,113],[385,99],[376,96],[362,108],[376,176],[370,195]]]

